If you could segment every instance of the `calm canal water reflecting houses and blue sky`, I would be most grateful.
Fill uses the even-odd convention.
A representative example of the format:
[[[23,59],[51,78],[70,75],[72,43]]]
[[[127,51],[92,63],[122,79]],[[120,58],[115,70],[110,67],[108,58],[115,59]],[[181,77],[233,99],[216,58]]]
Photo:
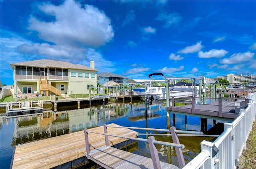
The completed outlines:
[[[172,114],[166,116],[166,106],[152,104],[147,108],[147,116],[144,101],[118,102],[106,105],[81,105],[58,108],[57,112],[44,111],[43,114],[28,115],[23,117],[6,118],[0,116],[0,168],[10,168],[12,153],[15,145],[56,137],[73,133],[84,128],[94,128],[105,123],[115,123],[120,126],[132,126],[142,128],[169,129],[175,126],[176,130],[201,131],[208,130],[208,134],[220,134],[225,121],[202,119],[193,116]],[[216,124],[216,125],[215,125]],[[220,125],[219,125],[220,124]],[[212,130],[213,126],[220,128]],[[135,130],[138,133],[152,133],[154,131]],[[211,132],[210,132],[211,131]],[[139,138],[146,138],[139,135]],[[156,140],[172,142],[171,136],[154,136]],[[185,163],[188,163],[200,152],[200,142],[203,140],[214,141],[214,137],[180,136],[181,144],[185,145],[183,155]],[[157,145],[160,161],[172,163],[178,166],[175,150],[164,145]],[[128,150],[133,153],[150,157],[148,144],[139,141],[136,147]]]

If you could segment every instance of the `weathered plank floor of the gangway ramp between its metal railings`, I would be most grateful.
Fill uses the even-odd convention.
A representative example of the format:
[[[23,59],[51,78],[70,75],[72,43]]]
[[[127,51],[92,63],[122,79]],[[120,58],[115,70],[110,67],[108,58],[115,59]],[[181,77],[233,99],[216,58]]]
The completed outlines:
[[[106,169],[153,169],[151,158],[133,154],[110,146],[90,151],[90,159]],[[179,169],[175,165],[160,161],[162,169]]]

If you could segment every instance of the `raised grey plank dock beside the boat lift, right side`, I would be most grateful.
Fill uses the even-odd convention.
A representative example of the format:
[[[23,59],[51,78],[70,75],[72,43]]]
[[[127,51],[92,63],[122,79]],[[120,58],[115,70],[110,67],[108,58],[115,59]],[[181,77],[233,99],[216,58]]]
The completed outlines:
[[[174,112],[183,112],[187,114],[197,114],[205,116],[214,116],[220,118],[235,119],[239,114],[235,113],[235,102],[216,101],[209,104],[184,105],[167,107],[166,110]]]

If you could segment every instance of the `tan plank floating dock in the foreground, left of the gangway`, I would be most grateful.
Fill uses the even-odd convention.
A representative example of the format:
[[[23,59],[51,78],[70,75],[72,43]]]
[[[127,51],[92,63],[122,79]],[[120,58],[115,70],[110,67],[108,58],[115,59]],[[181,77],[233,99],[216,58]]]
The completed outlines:
[[[118,126],[110,124],[110,126]],[[104,133],[104,128],[91,128],[89,131]],[[109,128],[109,134],[118,134],[125,137],[136,137],[135,132],[126,128]],[[90,134],[91,149],[104,146],[105,137],[103,135]],[[128,139],[109,137],[109,145],[114,146]],[[39,141],[33,141],[17,145],[12,159],[12,169],[49,169],[63,164],[70,165],[71,161],[84,158],[86,153],[86,143],[84,131],[74,132],[48,138]],[[70,163],[70,164],[69,164]]]

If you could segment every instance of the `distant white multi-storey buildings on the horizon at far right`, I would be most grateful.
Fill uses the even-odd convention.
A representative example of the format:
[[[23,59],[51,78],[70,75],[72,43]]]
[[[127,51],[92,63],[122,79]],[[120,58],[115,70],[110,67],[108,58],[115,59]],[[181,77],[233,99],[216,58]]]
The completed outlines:
[[[207,83],[216,82],[217,79],[226,79],[230,84],[239,83],[255,83],[256,75],[233,75],[232,73],[226,76],[217,76],[215,78],[206,78]]]

